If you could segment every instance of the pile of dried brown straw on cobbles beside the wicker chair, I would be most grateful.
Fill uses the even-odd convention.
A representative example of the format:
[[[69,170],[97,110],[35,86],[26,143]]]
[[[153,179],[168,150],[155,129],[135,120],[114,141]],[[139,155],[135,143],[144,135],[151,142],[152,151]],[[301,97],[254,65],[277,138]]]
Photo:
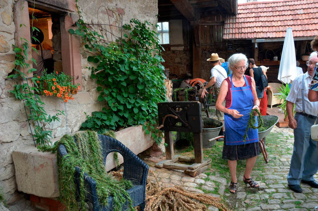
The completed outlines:
[[[122,178],[119,171],[111,173],[115,178]],[[153,174],[150,170],[149,173]],[[156,178],[154,174],[153,176]],[[205,204],[218,207],[220,211],[229,211],[218,197],[193,193],[184,190],[182,186],[159,186],[157,178],[156,182],[147,180],[145,211],[205,211]]]

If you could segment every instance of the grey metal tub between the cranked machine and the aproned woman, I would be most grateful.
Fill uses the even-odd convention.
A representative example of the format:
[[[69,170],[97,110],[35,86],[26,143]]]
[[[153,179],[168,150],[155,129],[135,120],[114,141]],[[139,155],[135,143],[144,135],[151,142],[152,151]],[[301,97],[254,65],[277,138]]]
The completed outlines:
[[[203,121],[203,125],[208,123],[215,126],[213,128],[203,128],[203,132],[202,132],[203,148],[213,147],[215,146],[216,140],[211,142],[208,142],[208,140],[211,138],[215,138],[219,135],[220,130],[223,127],[223,122],[216,119],[212,119],[212,118],[202,118],[202,121]]]

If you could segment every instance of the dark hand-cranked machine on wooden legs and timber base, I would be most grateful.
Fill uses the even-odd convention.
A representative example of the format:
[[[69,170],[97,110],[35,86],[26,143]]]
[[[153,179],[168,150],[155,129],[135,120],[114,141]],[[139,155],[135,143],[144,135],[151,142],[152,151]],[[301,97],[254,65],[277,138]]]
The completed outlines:
[[[205,171],[211,159],[203,159],[201,103],[198,101],[158,103],[158,115],[160,126],[157,128],[164,131],[167,160],[157,163],[155,167],[184,170],[184,173],[192,177]],[[193,133],[194,159],[180,155],[174,156],[171,131]],[[194,164],[178,164],[176,163],[178,161],[194,162]]]

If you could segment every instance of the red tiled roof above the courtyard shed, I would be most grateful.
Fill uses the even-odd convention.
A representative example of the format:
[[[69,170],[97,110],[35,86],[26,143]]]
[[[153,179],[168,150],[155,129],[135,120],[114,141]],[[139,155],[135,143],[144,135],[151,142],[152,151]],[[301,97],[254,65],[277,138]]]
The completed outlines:
[[[238,4],[238,14],[225,19],[224,39],[284,38],[318,35],[318,0],[285,0]]]

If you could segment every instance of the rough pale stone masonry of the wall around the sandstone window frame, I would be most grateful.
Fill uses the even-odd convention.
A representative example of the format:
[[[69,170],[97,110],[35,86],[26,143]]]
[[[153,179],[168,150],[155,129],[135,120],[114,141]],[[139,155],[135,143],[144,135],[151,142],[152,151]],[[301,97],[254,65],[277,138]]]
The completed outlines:
[[[15,2],[15,0],[0,0],[0,191],[5,193],[8,203],[18,199],[11,152],[33,144],[23,102],[16,100],[9,92],[15,82],[12,79],[6,79],[14,68],[15,60],[12,49],[12,44],[15,44],[15,23],[13,21]],[[107,10],[100,9],[100,23],[108,23],[108,17],[105,15],[108,13],[111,24],[116,25],[121,25],[121,15],[123,24],[129,23],[131,18],[156,23],[157,4],[157,0],[79,0],[79,6],[86,22],[96,23],[96,11],[100,5],[103,5],[107,7]],[[71,17],[75,21],[78,15],[73,12]],[[120,34],[120,31],[116,31],[116,29],[114,32],[117,35]],[[83,91],[77,93],[74,96],[75,100],[68,103],[61,103],[55,98],[42,97],[48,114],[55,114],[57,110],[65,111],[61,122],[55,122],[50,126],[54,137],[78,131],[81,123],[86,120],[84,112],[90,115],[93,111],[99,111],[103,107],[101,103],[97,102],[96,83],[90,78],[90,72],[86,69],[88,66],[86,58],[89,54],[83,51],[83,47],[80,50]],[[36,185],[36,181],[34,182]]]

